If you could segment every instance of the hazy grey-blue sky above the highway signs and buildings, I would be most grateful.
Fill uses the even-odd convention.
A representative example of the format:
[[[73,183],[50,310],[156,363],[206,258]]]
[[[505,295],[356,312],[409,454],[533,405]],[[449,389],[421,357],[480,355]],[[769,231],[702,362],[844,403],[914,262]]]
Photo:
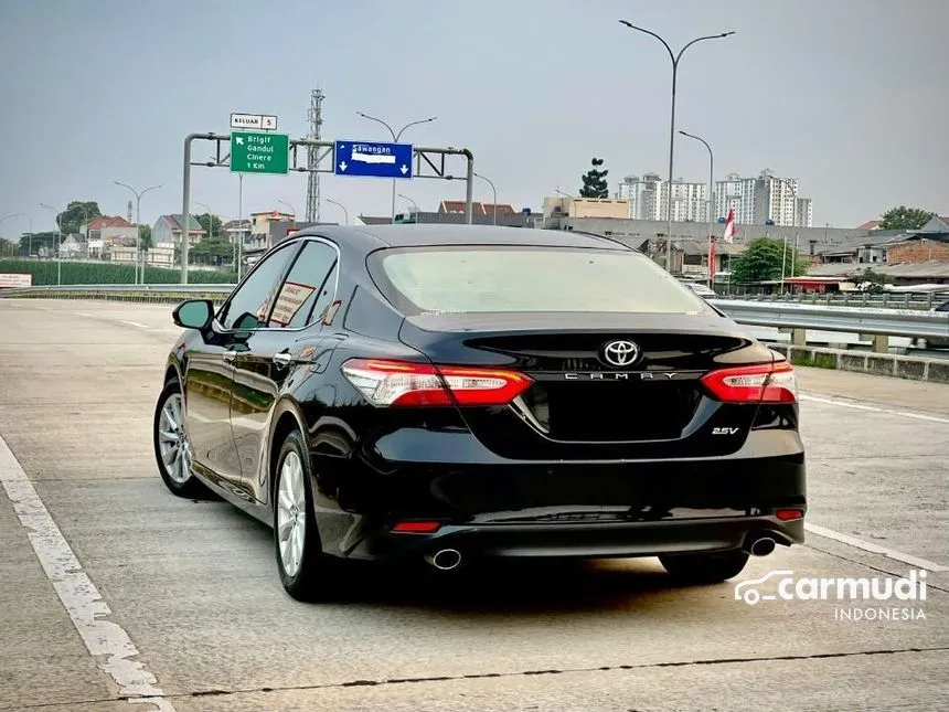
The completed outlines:
[[[278,117],[306,136],[320,87],[322,138],[385,140],[377,116],[415,145],[466,147],[498,201],[539,210],[576,193],[590,158],[610,194],[627,174],[668,174],[669,54],[676,129],[712,146],[726,173],[797,178],[814,225],[854,226],[893,205],[949,214],[947,0],[6,0],[0,7],[0,216],[95,200],[142,222],[182,208],[184,137],[227,132],[232,111]],[[212,145],[194,145],[206,158]],[[463,174],[465,161],[450,163]],[[702,182],[708,156],[675,142],[674,177]],[[248,176],[243,213],[303,219],[307,179]],[[387,215],[392,182],[321,177],[323,199]],[[423,210],[463,199],[463,181],[402,181]],[[476,200],[491,201],[476,180]],[[194,168],[192,201],[238,213],[238,180]],[[397,209],[409,202],[397,199]],[[192,212],[204,209],[192,203]],[[343,222],[324,202],[321,217]],[[0,224],[10,237],[23,219]]]

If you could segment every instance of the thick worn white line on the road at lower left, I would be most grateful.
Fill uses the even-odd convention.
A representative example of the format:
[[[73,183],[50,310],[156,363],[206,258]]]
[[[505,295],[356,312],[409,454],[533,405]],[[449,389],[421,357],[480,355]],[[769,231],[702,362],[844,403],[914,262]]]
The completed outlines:
[[[2,437],[0,482],[7,497],[13,502],[13,510],[28,532],[30,544],[43,571],[96,665],[115,680],[119,694],[128,697],[129,703],[151,704],[158,712],[175,712],[174,705],[163,699],[154,676],[145,668],[145,663],[135,659],[140,652],[131,638],[118,624],[107,619],[111,610],[83,571],[68,542]]]

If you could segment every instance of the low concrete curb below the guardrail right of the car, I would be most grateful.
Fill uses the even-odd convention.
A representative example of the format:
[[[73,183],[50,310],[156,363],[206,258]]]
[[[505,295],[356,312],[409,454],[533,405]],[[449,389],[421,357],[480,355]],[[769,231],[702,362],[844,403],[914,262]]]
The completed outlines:
[[[852,371],[871,375],[888,375],[929,383],[949,383],[949,359],[924,359],[894,353],[795,347],[786,343],[770,344],[769,348],[785,354],[795,365]]]

